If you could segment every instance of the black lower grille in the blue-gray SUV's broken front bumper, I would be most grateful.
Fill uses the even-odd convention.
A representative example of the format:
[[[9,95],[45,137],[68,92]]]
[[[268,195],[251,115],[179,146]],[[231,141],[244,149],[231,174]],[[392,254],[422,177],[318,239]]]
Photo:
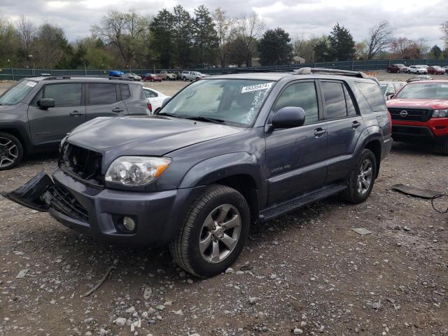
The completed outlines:
[[[88,223],[89,214],[87,210],[69,191],[55,184],[48,188],[47,195],[50,199],[50,207],[52,209],[78,221]]]

